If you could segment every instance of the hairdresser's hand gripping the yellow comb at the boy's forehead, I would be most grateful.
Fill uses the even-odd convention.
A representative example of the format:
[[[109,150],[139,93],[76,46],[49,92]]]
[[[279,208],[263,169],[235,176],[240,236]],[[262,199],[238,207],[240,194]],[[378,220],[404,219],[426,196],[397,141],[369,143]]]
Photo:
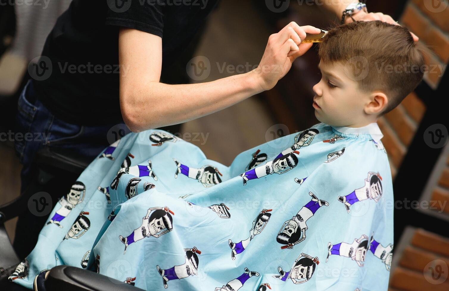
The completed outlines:
[[[262,90],[270,90],[290,70],[293,61],[304,55],[312,43],[301,43],[306,33],[319,34],[320,29],[313,26],[299,26],[290,22],[281,31],[270,35],[264,56],[260,60],[257,73]]]

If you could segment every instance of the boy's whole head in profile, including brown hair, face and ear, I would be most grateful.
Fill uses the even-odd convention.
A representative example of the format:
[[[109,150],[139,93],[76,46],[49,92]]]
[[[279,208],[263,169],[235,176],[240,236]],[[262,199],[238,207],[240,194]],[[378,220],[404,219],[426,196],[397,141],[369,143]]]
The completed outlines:
[[[382,21],[337,26],[319,44],[321,80],[315,116],[333,126],[361,127],[394,109],[423,78],[423,50],[409,31]]]

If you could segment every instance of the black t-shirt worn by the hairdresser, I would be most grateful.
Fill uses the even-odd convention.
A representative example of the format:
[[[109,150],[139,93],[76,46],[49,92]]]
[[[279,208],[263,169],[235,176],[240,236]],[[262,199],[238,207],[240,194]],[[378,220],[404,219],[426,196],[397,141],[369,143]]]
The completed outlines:
[[[31,76],[40,101],[69,123],[123,122],[119,28],[162,37],[164,68],[188,45],[218,1],[73,0],[48,35],[43,57],[33,66],[36,73]]]

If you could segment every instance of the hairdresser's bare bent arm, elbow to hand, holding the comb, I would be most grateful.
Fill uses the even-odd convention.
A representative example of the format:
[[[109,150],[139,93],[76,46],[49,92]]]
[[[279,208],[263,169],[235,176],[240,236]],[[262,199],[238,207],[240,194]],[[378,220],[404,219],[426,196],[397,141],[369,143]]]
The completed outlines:
[[[120,109],[133,132],[179,124],[220,111],[254,94],[269,90],[304,54],[310,43],[300,43],[306,32],[319,33],[295,22],[272,34],[260,65],[248,73],[201,84],[159,82],[162,39],[139,30],[119,32]]]

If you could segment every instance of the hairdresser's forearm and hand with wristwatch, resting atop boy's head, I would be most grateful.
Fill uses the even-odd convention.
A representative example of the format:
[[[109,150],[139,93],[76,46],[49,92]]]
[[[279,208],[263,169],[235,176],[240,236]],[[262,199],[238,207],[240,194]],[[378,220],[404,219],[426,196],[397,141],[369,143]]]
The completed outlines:
[[[359,0],[339,0],[339,1],[317,0],[317,2],[319,4],[321,4],[325,9],[328,9],[328,10],[332,11],[333,13],[335,13],[335,15],[337,16],[338,23],[340,23],[344,9],[346,9],[346,7],[348,7],[349,4],[357,3],[360,1]],[[369,4],[367,4],[367,8],[369,9]],[[394,19],[390,15],[383,14],[381,12],[366,13],[365,11],[360,11],[360,12],[354,14],[352,17],[356,21],[380,20],[380,21],[384,21],[384,22],[391,23],[394,25],[400,25],[396,21],[394,21]],[[349,22],[352,22],[352,18],[346,17],[345,23],[349,23]],[[417,42],[418,37],[411,31],[410,31],[410,34],[413,36],[414,41]]]

